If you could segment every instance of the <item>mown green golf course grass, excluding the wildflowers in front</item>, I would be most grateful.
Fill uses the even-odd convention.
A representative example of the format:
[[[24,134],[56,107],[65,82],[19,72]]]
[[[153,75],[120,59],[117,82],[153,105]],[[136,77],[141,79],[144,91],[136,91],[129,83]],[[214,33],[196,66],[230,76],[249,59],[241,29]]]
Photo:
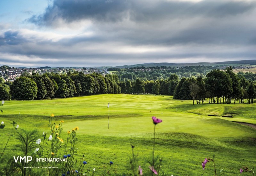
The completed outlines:
[[[108,108],[108,102],[110,106]],[[256,171],[256,129],[238,124],[256,124],[255,104],[193,105],[192,100],[175,100],[163,95],[101,94],[66,99],[5,101],[0,107],[0,151],[12,130],[12,122],[21,129],[37,129],[41,134],[50,129],[48,117],[67,132],[76,132],[76,157],[87,162],[86,168],[95,168],[94,175],[102,175],[104,166],[110,175],[129,175],[132,147],[143,169],[143,175],[152,175],[147,160],[152,158],[154,124],[152,116],[163,122],[156,125],[155,155],[162,161],[160,175],[214,175],[213,163],[202,168],[204,158],[214,157],[217,175],[239,175],[247,166]],[[109,113],[109,114],[108,114]],[[218,116],[208,116],[208,115]],[[221,117],[231,114],[233,118]],[[109,115],[109,121],[108,121]],[[109,122],[109,129],[108,129]],[[21,153],[14,134],[4,156]],[[47,145],[45,145],[47,148]],[[221,171],[221,172],[220,172]],[[252,175],[243,172],[243,175]]]

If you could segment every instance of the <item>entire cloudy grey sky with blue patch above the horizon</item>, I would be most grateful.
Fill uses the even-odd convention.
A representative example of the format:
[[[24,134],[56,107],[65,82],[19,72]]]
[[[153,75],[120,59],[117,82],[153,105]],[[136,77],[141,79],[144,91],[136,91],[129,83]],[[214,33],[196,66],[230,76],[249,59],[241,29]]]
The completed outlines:
[[[256,0],[1,0],[0,65],[256,59]]]

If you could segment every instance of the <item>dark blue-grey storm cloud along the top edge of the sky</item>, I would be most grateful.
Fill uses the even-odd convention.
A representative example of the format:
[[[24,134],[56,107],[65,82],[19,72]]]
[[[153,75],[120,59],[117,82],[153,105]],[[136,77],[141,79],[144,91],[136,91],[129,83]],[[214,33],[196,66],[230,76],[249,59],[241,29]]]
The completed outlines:
[[[165,0],[55,0],[44,14],[30,18],[36,24],[53,25],[55,20],[66,22],[91,19],[96,21],[162,20],[196,16],[226,17],[248,12],[255,2],[206,0],[198,3]]]

